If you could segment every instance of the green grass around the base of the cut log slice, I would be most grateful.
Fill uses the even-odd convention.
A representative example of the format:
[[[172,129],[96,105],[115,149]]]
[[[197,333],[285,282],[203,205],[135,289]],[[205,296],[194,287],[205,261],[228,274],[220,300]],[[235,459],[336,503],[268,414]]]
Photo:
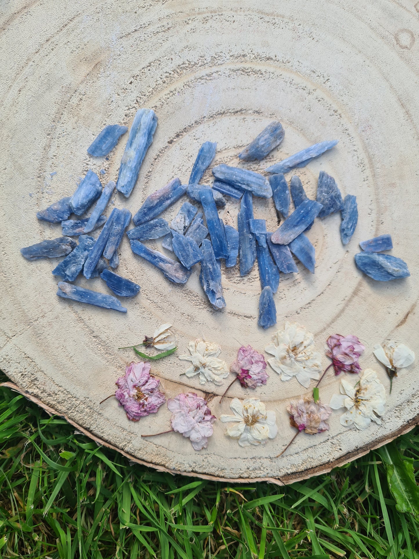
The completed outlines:
[[[0,389],[0,453],[2,557],[419,558],[380,457],[416,472],[419,429],[287,487],[222,484],[130,464]]]

